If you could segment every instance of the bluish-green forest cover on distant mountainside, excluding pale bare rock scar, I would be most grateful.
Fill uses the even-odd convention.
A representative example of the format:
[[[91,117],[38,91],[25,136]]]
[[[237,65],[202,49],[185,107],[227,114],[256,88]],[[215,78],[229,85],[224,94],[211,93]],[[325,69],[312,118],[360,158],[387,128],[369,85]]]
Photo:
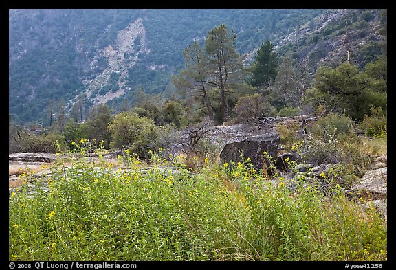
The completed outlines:
[[[360,67],[386,54],[386,10],[346,10],[320,28],[317,16],[323,14],[322,19],[328,19],[333,12],[316,9],[10,10],[10,112],[16,115],[19,123],[36,120],[47,124],[48,101],[64,99],[68,102],[84,93],[85,82],[96,78],[107,67],[107,58],[102,56],[101,50],[109,45],[117,49],[117,32],[137,18],[144,18],[147,38],[145,41],[140,37],[135,39],[135,52],[125,55],[126,62],[131,61],[139,49],[149,49],[150,53],[140,51],[134,65],[129,65],[128,76],[121,80],[131,89],[142,85],[147,93],[162,93],[170,84],[170,76],[183,65],[180,48],[188,47],[192,41],[203,46],[208,32],[221,24],[228,25],[238,36],[234,43],[238,54],[259,49],[257,58],[261,54],[260,46],[267,46],[266,49],[274,52],[274,44],[280,44],[279,56],[303,59],[311,52],[309,40],[312,38],[317,46],[308,57],[311,63],[318,64],[329,51],[329,44],[333,44],[330,38],[344,33],[347,26],[356,34],[367,34],[371,32],[371,25],[380,20],[382,25],[378,33],[382,40],[377,41],[379,37],[375,35],[370,35],[372,42],[357,40],[362,46],[353,53]],[[284,45],[285,35],[296,29],[318,31],[311,37],[295,36],[291,43]],[[320,36],[326,42],[321,43]],[[310,65],[313,74],[316,64]],[[153,66],[163,68],[153,70]],[[257,78],[254,80],[261,80],[260,76],[269,76],[265,81],[274,80],[272,72],[265,75],[267,71],[262,73],[259,65],[255,66]],[[120,74],[110,74],[109,82],[105,82],[102,89],[92,91],[92,97],[99,91],[102,94],[117,91]],[[239,88],[230,87],[228,91],[236,89]],[[133,100],[133,91],[126,91],[126,98]],[[85,113],[88,110],[87,102]]]

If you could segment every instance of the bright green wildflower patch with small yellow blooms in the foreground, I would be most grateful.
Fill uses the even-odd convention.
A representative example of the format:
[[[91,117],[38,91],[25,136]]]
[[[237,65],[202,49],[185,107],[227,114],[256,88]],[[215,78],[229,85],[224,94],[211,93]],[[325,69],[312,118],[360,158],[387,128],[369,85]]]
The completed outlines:
[[[292,193],[248,161],[195,174],[155,153],[150,166],[129,153],[118,161],[65,159],[34,188],[34,176],[21,175],[10,192],[9,259],[387,260],[380,214],[343,194]]]

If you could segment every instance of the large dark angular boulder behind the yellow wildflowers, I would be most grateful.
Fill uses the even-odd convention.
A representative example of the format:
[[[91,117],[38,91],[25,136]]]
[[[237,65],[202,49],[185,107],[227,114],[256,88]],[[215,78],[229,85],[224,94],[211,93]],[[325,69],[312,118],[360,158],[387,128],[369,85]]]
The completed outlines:
[[[232,142],[225,144],[220,153],[221,162],[242,161],[241,155],[245,159],[250,158],[252,165],[257,169],[263,168],[263,162],[270,166],[263,153],[266,151],[272,159],[278,156],[278,144],[280,136],[274,130],[267,130],[259,135],[251,135],[246,133],[245,137],[236,137]]]

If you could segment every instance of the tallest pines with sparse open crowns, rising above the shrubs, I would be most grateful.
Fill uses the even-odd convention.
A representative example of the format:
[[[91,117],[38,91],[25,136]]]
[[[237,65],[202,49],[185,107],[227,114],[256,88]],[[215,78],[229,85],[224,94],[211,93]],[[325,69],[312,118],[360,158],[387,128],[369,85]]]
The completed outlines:
[[[204,50],[197,41],[184,49],[186,67],[173,76],[175,87],[183,95],[195,97],[206,114],[219,124],[230,116],[229,93],[243,83],[243,58],[236,51],[235,42],[234,30],[228,32],[224,24],[214,27],[206,36]]]

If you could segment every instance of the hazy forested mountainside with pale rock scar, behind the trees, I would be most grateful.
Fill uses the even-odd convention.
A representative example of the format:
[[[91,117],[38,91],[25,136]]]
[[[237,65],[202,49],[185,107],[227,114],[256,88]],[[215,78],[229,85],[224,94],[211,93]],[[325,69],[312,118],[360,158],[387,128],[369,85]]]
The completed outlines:
[[[21,124],[50,126],[63,109],[106,103],[113,112],[145,93],[175,94],[170,77],[182,51],[203,44],[221,23],[236,34],[245,65],[265,40],[280,56],[307,60],[311,73],[351,58],[363,67],[381,53],[380,10],[10,10],[10,115]],[[60,106],[60,104],[62,106]],[[65,106],[65,108],[63,108]]]

